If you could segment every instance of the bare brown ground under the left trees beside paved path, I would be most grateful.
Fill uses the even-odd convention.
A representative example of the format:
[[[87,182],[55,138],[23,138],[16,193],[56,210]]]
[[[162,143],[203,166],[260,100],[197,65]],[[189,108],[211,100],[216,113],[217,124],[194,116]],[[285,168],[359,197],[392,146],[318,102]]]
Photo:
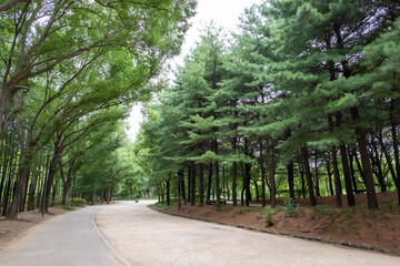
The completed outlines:
[[[8,221],[4,217],[0,217],[0,250],[24,236],[32,226],[67,212],[70,211],[50,207],[49,214],[43,217],[38,209],[19,213],[17,221]]]

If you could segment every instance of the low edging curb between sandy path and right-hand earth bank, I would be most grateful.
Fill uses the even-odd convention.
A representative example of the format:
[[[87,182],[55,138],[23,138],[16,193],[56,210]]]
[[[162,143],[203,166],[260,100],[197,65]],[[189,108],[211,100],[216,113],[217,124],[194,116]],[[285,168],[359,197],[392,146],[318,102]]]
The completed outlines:
[[[212,219],[207,219],[207,218],[188,217],[188,216],[180,215],[180,214],[169,213],[168,211],[162,209],[162,208],[158,208],[154,205],[149,205],[148,207],[151,208],[151,209],[158,211],[160,213],[164,213],[164,214],[168,214],[168,215],[171,215],[171,216],[178,216],[178,217],[182,217],[182,218],[188,218],[188,219],[208,222],[208,223],[213,223],[213,224],[219,224],[219,225],[227,225],[227,226],[242,228],[242,229],[247,229],[247,231],[267,233],[267,234],[272,234],[272,235],[288,236],[288,237],[293,237],[293,238],[299,238],[299,239],[304,239],[304,241],[320,242],[320,243],[323,243],[323,244],[331,244],[331,245],[351,247],[351,248],[363,249],[363,250],[371,250],[371,252],[377,252],[377,253],[382,253],[382,254],[393,255],[393,256],[399,256],[400,257],[400,253],[392,252],[392,250],[384,249],[384,248],[380,248],[380,247],[372,246],[372,245],[367,245],[367,244],[361,244],[360,245],[360,244],[354,244],[354,243],[346,242],[346,241],[331,241],[329,238],[322,238],[322,237],[309,237],[309,236],[293,235],[293,234],[277,232],[277,231],[259,229],[259,228],[243,226],[243,225],[231,225],[231,224],[227,224],[227,223],[223,223],[223,222],[218,222],[218,221],[212,221]]]

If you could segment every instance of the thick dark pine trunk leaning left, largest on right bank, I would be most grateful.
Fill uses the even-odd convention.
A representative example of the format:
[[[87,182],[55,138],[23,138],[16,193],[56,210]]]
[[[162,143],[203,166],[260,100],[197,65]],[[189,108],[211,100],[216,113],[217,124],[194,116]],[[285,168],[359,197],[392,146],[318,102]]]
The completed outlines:
[[[358,123],[360,120],[360,115],[357,106],[350,109],[350,114],[354,123]],[[379,206],[378,206],[377,193],[374,190],[372,168],[368,156],[366,132],[361,126],[357,126],[354,131],[361,155],[362,170],[364,172],[364,177],[366,177],[368,208],[378,208]]]

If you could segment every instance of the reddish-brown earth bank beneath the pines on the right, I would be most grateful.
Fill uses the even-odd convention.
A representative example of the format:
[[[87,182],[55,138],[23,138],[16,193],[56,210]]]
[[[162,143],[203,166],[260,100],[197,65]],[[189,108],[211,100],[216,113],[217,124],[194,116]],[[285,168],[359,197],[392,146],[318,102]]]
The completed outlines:
[[[284,207],[278,200],[276,209],[253,207],[233,207],[231,204],[217,207],[204,205],[191,207],[190,204],[162,207],[163,212],[216,222],[247,229],[289,235],[300,238],[333,243],[344,246],[373,249],[400,255],[400,208],[397,205],[397,192],[379,193],[380,209],[367,209],[367,195],[356,195],[357,207],[334,207],[334,197],[318,197],[317,207],[308,207],[308,200],[297,200],[298,207]],[[343,196],[343,205],[347,200]],[[240,202],[239,202],[240,204]],[[156,205],[160,206],[160,205]]]

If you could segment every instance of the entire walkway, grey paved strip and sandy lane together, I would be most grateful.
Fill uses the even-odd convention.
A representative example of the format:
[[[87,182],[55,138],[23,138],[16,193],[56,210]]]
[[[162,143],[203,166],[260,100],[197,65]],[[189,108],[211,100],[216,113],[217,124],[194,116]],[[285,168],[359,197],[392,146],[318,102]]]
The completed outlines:
[[[400,265],[396,256],[166,215],[151,203],[90,206],[48,219],[1,250],[0,265]]]

